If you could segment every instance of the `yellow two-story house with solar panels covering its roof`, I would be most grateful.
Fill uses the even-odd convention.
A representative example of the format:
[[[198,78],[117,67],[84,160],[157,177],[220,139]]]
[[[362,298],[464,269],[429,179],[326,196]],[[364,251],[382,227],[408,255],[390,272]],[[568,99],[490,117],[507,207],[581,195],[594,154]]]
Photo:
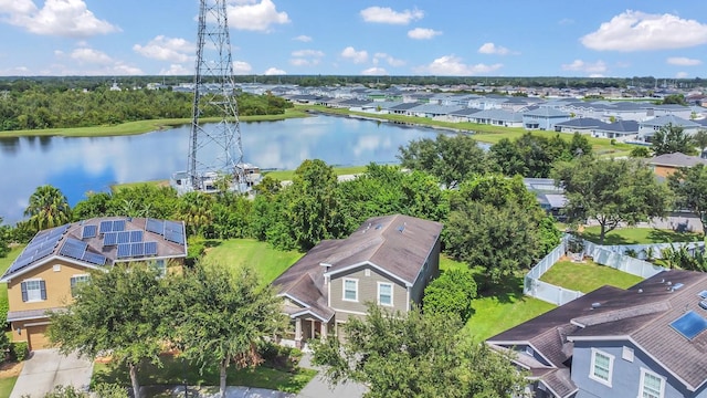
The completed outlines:
[[[48,347],[48,312],[71,302],[92,270],[148,262],[166,271],[186,256],[180,221],[109,217],[40,231],[0,277],[8,284],[12,339],[28,342],[30,350]]]

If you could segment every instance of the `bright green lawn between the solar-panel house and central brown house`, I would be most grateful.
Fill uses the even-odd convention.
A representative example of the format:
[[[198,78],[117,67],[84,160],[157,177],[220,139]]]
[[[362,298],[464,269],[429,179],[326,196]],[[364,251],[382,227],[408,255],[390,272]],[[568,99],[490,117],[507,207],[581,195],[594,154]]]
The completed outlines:
[[[297,251],[273,249],[268,243],[254,239],[230,239],[215,243],[207,249],[204,263],[218,263],[232,270],[247,264],[257,271],[263,283],[274,281],[303,255]]]

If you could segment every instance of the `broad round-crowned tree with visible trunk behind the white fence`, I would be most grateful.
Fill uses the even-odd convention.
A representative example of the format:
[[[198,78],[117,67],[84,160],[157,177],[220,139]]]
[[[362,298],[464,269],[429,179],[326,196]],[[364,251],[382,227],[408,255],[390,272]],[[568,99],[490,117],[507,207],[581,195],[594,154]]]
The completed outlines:
[[[620,223],[632,226],[662,217],[671,202],[667,187],[636,159],[581,157],[558,164],[553,178],[564,188],[569,219],[582,223],[595,220],[601,244],[606,232]]]

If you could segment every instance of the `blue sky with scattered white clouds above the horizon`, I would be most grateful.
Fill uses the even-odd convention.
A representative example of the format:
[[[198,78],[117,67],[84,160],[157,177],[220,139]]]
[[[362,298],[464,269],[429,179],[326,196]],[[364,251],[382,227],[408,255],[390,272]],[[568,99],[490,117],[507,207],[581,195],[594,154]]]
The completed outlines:
[[[704,0],[226,1],[236,74],[707,77]],[[0,75],[192,74],[198,10],[0,0]]]

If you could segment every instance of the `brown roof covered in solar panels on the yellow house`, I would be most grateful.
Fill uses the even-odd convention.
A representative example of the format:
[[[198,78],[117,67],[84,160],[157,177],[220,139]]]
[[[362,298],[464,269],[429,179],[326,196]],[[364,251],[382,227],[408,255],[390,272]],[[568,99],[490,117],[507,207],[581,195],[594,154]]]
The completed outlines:
[[[184,256],[187,235],[181,221],[93,218],[38,232],[2,274],[0,282],[8,282],[53,259],[101,269],[117,262]]]

